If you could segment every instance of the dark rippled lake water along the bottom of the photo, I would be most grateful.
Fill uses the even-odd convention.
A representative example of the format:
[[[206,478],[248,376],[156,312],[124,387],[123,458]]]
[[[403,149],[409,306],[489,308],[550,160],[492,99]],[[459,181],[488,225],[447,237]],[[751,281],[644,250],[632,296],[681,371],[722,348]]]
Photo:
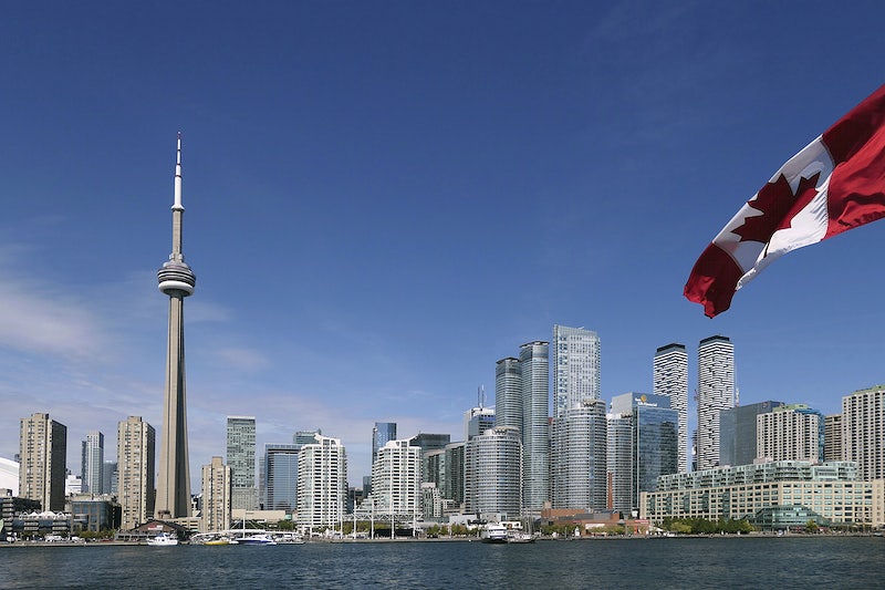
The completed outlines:
[[[885,588],[881,537],[0,548],[0,588]]]

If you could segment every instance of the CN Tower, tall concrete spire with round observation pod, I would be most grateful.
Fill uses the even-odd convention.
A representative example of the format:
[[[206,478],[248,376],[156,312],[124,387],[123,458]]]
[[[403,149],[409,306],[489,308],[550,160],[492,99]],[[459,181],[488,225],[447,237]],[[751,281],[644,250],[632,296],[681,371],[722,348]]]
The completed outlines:
[[[166,393],[159,446],[156,517],[190,516],[190,473],[187,454],[187,397],[185,396],[185,298],[194,294],[197,277],[181,253],[181,134],[175,161],[173,253],[157,271],[159,290],[169,296],[169,343],[166,349]]]

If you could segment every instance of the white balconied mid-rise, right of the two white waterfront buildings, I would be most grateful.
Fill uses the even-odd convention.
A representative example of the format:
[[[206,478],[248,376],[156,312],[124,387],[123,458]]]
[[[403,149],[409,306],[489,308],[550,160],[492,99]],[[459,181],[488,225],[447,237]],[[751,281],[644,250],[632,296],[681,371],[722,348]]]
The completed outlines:
[[[421,449],[412,439],[388,441],[372,465],[375,518],[412,520],[420,514]]]

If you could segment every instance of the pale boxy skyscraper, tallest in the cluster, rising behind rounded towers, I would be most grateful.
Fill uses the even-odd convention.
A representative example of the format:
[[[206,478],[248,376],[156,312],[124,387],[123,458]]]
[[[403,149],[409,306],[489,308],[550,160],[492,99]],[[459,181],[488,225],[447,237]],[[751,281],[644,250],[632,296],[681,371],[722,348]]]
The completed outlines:
[[[553,325],[555,417],[600,398],[600,337],[583,328]]]

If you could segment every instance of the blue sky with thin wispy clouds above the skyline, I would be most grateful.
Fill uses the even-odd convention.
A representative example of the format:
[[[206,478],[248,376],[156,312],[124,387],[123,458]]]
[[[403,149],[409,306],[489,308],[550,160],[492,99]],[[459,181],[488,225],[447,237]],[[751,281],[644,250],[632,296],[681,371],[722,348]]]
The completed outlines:
[[[683,286],[790,156],[885,83],[878,2],[30,2],[0,20],[0,456],[19,418],[158,429],[184,136],[191,472],[227,415],[451,433],[552,325],[606,400],[657,346],[736,348],[742,403],[885,381],[873,224],[780,259],[714,320]],[[260,453],[260,452],[259,452]],[[195,479],[196,480],[196,479]]]

